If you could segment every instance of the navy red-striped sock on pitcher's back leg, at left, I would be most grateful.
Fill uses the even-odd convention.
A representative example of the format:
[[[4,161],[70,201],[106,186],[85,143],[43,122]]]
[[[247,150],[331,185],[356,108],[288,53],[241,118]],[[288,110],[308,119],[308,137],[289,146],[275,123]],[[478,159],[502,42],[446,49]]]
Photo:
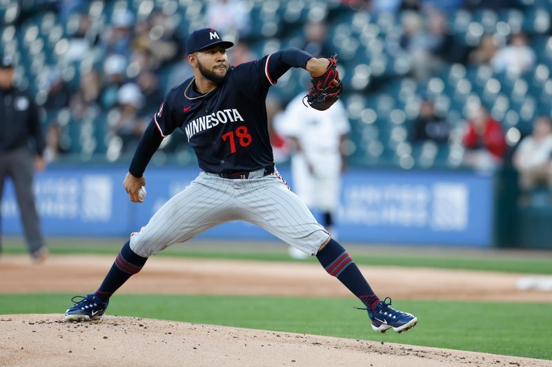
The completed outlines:
[[[109,297],[111,297],[131,275],[135,275],[142,269],[142,266],[146,264],[146,260],[148,260],[148,258],[142,258],[134,253],[134,251],[130,249],[130,241],[127,241],[119,252],[119,255],[117,255],[108,275],[106,275],[103,283],[101,283],[101,286],[96,291],[96,297],[102,302],[107,302]]]

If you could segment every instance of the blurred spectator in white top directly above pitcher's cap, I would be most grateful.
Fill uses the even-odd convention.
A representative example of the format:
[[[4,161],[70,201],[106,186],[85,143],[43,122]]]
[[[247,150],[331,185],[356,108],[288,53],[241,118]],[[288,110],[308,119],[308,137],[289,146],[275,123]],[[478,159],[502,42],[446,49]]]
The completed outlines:
[[[204,24],[235,39],[248,36],[251,30],[249,7],[244,0],[215,0],[207,5]],[[228,37],[227,37],[228,38]]]

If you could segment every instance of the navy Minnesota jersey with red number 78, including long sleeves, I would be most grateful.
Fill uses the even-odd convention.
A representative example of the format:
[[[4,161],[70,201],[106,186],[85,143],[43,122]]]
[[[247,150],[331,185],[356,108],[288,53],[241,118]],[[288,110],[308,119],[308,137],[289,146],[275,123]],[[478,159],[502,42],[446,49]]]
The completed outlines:
[[[130,165],[140,177],[161,137],[181,129],[206,172],[255,171],[273,163],[265,99],[270,85],[290,67],[305,67],[311,55],[297,49],[230,67],[224,82],[199,94],[190,78],[170,90],[141,138]],[[154,134],[157,130],[157,134]]]

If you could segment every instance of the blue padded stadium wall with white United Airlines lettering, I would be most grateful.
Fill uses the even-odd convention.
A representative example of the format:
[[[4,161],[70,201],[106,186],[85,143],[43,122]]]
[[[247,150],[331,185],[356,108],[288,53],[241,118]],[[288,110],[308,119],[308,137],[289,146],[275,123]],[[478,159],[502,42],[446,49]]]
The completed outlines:
[[[122,187],[126,167],[50,167],[34,182],[43,231],[55,236],[129,235],[198,172],[191,167],[150,168],[146,201],[133,204]],[[288,169],[280,172],[293,188]],[[3,233],[21,235],[9,181],[2,217]],[[351,169],[344,174],[337,222],[344,242],[491,247],[493,178],[471,171]],[[224,224],[199,238],[276,240],[247,222]]]

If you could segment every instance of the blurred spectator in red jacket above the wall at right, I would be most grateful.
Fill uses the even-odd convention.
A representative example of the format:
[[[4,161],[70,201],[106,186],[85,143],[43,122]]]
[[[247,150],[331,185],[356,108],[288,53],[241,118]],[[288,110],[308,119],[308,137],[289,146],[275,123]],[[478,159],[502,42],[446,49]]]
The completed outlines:
[[[504,132],[483,106],[477,107],[468,121],[464,147],[467,149],[464,154],[467,167],[493,171],[502,165],[506,151]]]

